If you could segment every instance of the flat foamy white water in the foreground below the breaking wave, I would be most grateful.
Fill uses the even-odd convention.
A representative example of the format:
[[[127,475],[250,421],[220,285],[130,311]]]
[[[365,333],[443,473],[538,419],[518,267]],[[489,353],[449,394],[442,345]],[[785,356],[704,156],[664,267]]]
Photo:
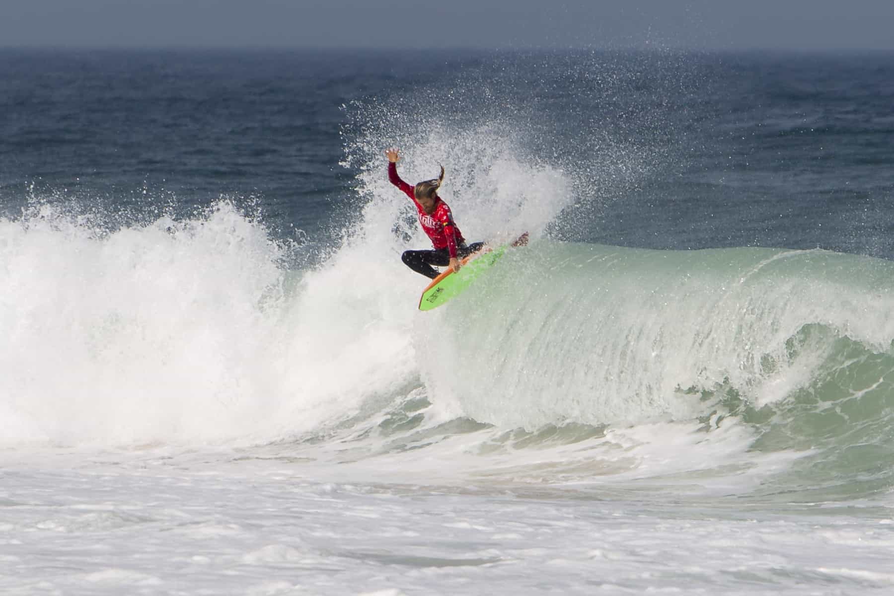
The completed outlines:
[[[420,463],[421,451],[413,451]],[[625,498],[611,487],[526,491],[509,478],[452,490],[401,484],[387,464],[378,470],[384,483],[324,484],[319,478],[344,474],[342,466],[209,453],[101,459],[4,454],[4,489],[30,494],[28,507],[0,511],[18,526],[0,542],[15,553],[0,557],[7,592],[525,593],[549,585],[573,593],[611,585],[769,596],[891,583],[894,548],[877,520],[743,509],[740,499],[692,499],[683,485],[640,485]],[[376,473],[369,462],[364,469]],[[437,472],[430,462],[427,470]],[[34,529],[48,509],[91,499],[152,522]],[[231,531],[195,531],[209,525]],[[589,585],[594,578],[611,580]]]

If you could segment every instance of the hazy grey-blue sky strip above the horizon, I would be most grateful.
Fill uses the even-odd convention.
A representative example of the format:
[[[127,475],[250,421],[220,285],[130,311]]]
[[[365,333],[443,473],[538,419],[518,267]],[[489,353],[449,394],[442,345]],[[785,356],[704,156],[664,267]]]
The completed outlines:
[[[894,0],[0,0],[0,46],[894,50]]]

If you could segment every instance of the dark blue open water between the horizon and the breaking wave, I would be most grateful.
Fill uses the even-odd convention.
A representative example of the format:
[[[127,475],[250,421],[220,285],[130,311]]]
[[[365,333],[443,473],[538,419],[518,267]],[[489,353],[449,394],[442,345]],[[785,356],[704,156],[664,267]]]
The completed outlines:
[[[890,258],[892,81],[888,54],[4,50],[0,209],[226,197],[325,244],[381,149],[487,123],[569,172],[555,238]]]

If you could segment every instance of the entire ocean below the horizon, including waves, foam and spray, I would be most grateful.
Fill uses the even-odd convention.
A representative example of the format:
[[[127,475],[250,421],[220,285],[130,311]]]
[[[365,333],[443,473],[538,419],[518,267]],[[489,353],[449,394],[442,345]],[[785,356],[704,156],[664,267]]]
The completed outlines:
[[[0,592],[894,593],[894,55],[0,51]],[[417,311],[393,188],[469,241]]]

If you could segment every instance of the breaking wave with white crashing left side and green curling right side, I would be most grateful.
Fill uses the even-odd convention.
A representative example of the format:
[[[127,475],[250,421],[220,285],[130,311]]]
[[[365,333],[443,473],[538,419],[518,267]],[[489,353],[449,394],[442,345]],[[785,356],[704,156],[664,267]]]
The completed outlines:
[[[373,228],[291,270],[228,203],[102,233],[52,210],[0,221],[4,445],[347,436],[372,454],[472,433],[485,460],[558,446],[567,475],[563,445],[623,435],[691,455],[692,437],[733,432],[725,461],[811,453],[791,477],[825,496],[855,474],[865,491],[894,483],[888,261],[541,238],[419,313],[401,246]],[[675,457],[695,470],[716,455]],[[580,470],[630,469],[599,461]]]

